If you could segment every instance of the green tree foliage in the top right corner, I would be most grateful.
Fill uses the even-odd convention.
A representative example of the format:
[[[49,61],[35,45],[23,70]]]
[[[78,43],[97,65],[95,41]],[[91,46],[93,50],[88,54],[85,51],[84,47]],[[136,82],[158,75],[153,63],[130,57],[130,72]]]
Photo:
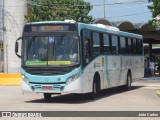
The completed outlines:
[[[149,2],[152,2],[152,5],[149,5],[148,8],[152,12],[152,20],[149,21],[151,25],[154,27],[160,26],[160,17],[157,17],[160,15],[160,0],[149,0]]]

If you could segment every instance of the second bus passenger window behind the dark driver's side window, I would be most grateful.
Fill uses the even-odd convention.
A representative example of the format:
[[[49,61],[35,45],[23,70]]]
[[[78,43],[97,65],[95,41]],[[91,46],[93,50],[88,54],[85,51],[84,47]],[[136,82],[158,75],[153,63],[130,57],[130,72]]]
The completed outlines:
[[[110,42],[109,42],[109,35],[103,35],[103,42],[104,42],[104,53],[110,53]]]

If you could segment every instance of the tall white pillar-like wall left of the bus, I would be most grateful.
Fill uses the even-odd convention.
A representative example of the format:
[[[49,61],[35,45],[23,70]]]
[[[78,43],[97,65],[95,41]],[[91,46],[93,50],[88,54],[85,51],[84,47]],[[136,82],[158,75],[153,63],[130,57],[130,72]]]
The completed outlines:
[[[4,0],[4,72],[19,73],[20,59],[15,55],[14,44],[22,34],[24,15],[26,14],[25,0]]]

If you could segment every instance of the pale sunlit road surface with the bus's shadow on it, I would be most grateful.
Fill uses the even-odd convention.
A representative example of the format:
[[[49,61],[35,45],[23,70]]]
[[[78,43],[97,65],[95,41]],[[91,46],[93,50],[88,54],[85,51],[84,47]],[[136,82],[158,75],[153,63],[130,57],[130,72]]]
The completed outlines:
[[[20,86],[0,86],[0,111],[160,111],[160,97],[156,95],[160,80],[141,80],[132,86],[130,91],[121,88],[102,91],[96,100],[72,94],[52,96],[50,101],[44,100],[42,94],[22,94]]]

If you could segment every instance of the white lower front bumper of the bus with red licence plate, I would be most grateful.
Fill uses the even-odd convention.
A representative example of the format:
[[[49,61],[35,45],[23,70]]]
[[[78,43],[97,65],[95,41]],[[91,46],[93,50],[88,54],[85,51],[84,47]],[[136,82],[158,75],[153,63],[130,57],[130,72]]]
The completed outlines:
[[[83,93],[80,78],[70,84],[27,84],[22,80],[22,92],[36,93]]]

